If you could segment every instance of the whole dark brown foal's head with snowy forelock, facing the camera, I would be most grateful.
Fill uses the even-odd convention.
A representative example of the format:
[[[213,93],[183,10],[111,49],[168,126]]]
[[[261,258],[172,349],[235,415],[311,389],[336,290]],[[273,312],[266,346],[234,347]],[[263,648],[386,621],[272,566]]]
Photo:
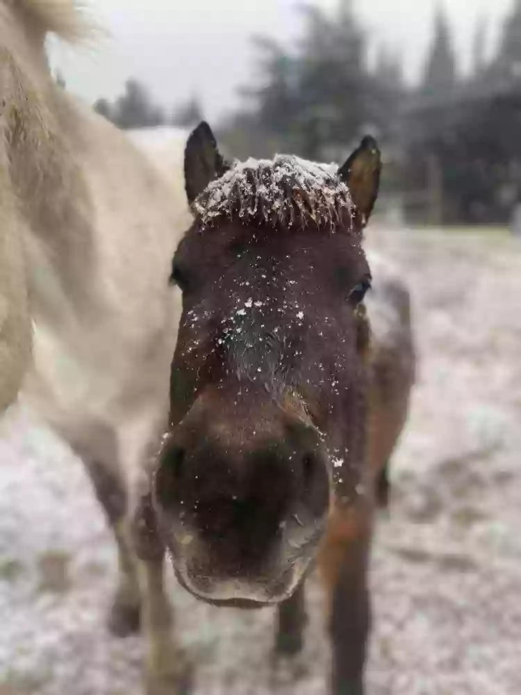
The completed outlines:
[[[195,221],[172,266],[183,315],[154,506],[181,583],[210,603],[288,598],[333,494],[363,494],[370,269],[380,157],[224,161],[190,136]]]

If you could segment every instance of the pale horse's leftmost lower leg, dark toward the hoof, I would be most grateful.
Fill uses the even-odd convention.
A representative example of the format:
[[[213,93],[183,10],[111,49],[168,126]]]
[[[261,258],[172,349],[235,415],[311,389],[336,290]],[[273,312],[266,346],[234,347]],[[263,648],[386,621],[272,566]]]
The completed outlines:
[[[141,594],[133,539],[127,516],[127,495],[122,478],[104,464],[86,464],[97,498],[113,529],[119,562],[119,584],[108,619],[110,631],[126,637],[140,628]]]

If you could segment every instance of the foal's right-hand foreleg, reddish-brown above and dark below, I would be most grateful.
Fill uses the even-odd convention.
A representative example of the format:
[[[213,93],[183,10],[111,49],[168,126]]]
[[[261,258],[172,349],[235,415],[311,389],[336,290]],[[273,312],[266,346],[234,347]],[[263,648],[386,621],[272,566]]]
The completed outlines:
[[[370,631],[367,561],[370,511],[335,509],[320,553],[329,599],[331,695],[363,695]]]

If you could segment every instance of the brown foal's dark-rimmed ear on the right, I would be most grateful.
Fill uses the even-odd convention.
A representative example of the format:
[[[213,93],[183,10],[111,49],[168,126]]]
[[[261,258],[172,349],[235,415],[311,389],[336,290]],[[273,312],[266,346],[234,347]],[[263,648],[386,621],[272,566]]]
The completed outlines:
[[[360,146],[338,170],[338,177],[347,183],[363,227],[367,224],[380,186],[381,155],[377,141],[365,136]]]

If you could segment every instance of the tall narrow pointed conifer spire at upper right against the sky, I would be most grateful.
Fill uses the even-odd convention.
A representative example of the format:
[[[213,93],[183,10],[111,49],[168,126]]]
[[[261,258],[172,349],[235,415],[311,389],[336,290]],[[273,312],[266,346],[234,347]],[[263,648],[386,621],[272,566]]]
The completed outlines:
[[[425,65],[422,90],[433,97],[443,98],[456,85],[456,58],[449,23],[441,8],[434,17],[431,50]]]

